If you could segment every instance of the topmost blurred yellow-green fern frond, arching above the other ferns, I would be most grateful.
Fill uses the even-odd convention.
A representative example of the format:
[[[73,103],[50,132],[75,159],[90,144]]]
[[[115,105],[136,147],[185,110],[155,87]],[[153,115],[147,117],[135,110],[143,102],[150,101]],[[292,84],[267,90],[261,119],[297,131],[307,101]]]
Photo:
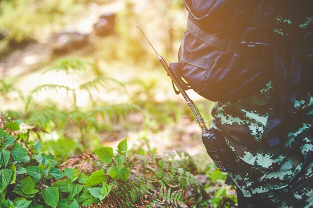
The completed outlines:
[[[86,70],[86,66],[91,66],[92,68],[96,67],[94,63],[90,61],[79,60],[76,57],[62,58],[58,59],[52,67],[48,68],[43,73],[49,71],[64,71],[66,74],[71,74],[78,71]]]

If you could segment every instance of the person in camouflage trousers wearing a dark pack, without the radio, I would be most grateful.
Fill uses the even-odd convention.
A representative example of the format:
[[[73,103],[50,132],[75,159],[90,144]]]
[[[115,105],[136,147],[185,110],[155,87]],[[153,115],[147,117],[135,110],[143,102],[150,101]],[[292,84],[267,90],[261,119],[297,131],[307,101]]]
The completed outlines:
[[[216,101],[238,207],[313,207],[313,1],[184,0],[173,68]]]

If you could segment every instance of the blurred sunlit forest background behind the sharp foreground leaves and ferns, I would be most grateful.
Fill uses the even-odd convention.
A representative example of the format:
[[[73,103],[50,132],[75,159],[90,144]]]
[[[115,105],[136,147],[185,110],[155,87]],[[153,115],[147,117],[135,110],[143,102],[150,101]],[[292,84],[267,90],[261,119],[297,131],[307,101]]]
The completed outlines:
[[[137,153],[205,155],[200,128],[136,28],[175,62],[186,18],[182,0],[1,0],[1,113],[37,128],[30,139],[60,162],[124,137]],[[209,122],[212,103],[188,94]]]

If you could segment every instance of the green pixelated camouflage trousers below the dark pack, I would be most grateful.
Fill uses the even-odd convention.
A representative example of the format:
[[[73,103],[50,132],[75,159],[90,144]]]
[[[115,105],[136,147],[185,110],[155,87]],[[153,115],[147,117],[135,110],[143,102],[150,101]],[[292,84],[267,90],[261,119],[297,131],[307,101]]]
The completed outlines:
[[[258,94],[244,100],[215,103],[211,126],[222,129],[227,144],[238,159],[253,165],[243,173],[228,173],[226,182],[235,184],[245,197],[268,199],[274,207],[312,207],[313,140],[310,131],[313,97],[306,103],[305,100],[295,101],[294,120],[284,148],[278,156],[271,158],[274,152],[266,151],[262,144],[270,113],[266,108],[272,90],[269,81]],[[248,130],[255,149],[246,149],[242,140],[236,140],[233,133],[240,132],[238,128]]]

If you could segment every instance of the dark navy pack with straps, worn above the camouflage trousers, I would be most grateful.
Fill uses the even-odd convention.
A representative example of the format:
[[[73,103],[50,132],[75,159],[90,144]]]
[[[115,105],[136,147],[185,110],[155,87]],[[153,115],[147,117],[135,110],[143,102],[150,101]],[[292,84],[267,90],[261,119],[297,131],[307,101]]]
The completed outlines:
[[[193,90],[213,101],[245,99],[272,81],[267,145],[281,145],[296,97],[313,94],[313,23],[307,19],[313,16],[313,1],[184,3],[188,22],[178,54],[181,68],[174,70],[181,70]]]

